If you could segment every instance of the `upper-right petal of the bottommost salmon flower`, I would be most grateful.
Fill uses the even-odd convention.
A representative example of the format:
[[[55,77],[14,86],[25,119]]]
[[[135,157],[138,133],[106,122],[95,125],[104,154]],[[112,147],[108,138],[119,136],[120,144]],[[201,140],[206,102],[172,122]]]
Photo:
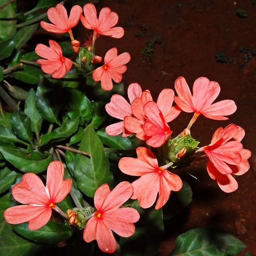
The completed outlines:
[[[132,185],[123,181],[119,183],[107,196],[102,206],[102,211],[115,210],[131,198],[133,192]]]

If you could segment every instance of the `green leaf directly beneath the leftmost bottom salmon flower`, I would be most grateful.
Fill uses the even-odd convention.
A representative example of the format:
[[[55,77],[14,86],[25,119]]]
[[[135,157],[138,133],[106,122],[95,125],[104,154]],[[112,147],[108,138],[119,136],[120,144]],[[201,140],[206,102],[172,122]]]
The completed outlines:
[[[68,225],[52,220],[42,228],[39,228],[39,230],[29,230],[28,223],[15,225],[13,229],[19,235],[30,241],[48,245],[65,241],[69,239],[73,233]]]

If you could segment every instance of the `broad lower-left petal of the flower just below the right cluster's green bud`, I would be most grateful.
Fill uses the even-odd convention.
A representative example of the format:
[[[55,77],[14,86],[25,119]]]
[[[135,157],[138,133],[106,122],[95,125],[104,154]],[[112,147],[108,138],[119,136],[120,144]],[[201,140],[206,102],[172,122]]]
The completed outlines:
[[[133,181],[132,199],[138,199],[142,208],[151,207],[157,198],[159,191],[159,173],[148,173]]]

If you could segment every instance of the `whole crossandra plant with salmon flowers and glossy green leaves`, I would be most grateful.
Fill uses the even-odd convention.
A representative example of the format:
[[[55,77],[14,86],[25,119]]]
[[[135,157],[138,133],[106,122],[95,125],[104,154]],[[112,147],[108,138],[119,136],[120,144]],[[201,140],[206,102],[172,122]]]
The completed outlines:
[[[113,47],[104,59],[96,55],[99,36],[124,36],[116,12],[105,7],[97,16],[95,5],[83,3],[68,15],[63,2],[39,0],[21,14],[15,1],[0,4],[3,255],[35,255],[51,251],[50,245],[65,246],[72,255],[82,237],[85,255],[102,255],[93,240],[105,253],[156,255],[164,220],[192,198],[177,170],[208,159],[205,170],[220,189],[237,190],[235,176],[250,168],[244,129],[220,127],[203,146],[191,136],[200,115],[218,122],[237,109],[230,99],[213,103],[217,82],[199,77],[191,93],[179,77],[177,96],[163,89],[156,102],[149,90],[131,83],[128,102],[120,82],[130,54]],[[63,34],[70,40],[49,39],[26,52],[39,21],[49,38]],[[86,42],[75,39],[77,25],[91,33]],[[174,135],[171,122],[181,111],[193,116]],[[238,255],[245,247],[231,234],[195,228],[177,238],[170,255]]]

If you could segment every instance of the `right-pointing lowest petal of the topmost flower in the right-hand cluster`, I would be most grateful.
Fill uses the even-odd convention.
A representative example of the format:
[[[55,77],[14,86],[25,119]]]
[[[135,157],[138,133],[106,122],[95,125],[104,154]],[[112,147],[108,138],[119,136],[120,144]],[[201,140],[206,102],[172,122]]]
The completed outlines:
[[[233,100],[225,99],[220,102],[213,103],[206,109],[201,111],[202,114],[210,114],[211,116],[229,116],[237,110],[237,105],[235,105]]]

